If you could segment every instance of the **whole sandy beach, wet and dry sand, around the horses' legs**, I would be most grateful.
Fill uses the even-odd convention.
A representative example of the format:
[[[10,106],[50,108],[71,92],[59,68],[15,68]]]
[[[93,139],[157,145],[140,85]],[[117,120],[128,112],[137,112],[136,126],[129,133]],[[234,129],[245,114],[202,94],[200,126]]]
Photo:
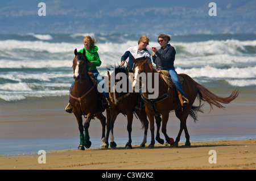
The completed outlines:
[[[38,150],[34,154],[1,155],[0,169],[256,169],[256,140],[254,100],[245,100],[241,95],[225,110],[214,109],[209,112],[208,104],[200,113],[199,121],[194,123],[188,119],[188,131],[191,135],[191,146],[185,147],[180,141],[179,148],[156,145],[154,149],[141,149],[134,142],[142,141],[141,123],[134,118],[133,149],[124,149],[125,141],[117,149],[90,148],[85,151],[76,150],[79,145],[79,131],[75,116],[65,113],[67,100],[38,99],[32,103],[24,100],[17,103],[1,104],[1,140],[10,140],[14,144],[11,149],[18,149],[15,143],[31,138],[50,139],[63,138],[65,149],[47,151],[46,163],[39,164]],[[28,104],[30,103],[30,104]],[[10,111],[11,108],[11,111]],[[115,138],[127,140],[126,117],[120,115],[115,123]],[[90,124],[90,137],[100,141],[101,124],[93,120]],[[179,120],[170,113],[168,134],[176,138]],[[163,137],[161,133],[160,136]],[[77,137],[75,146],[65,143],[65,138]],[[139,137],[139,140],[136,140]],[[205,138],[203,142],[195,140]],[[247,138],[241,140],[241,138]],[[220,139],[221,140],[218,140]],[[223,139],[229,138],[229,141]],[[251,139],[250,139],[251,138]],[[184,140],[184,133],[181,135]],[[209,141],[211,140],[211,141]],[[148,132],[147,144],[150,142]],[[40,145],[40,142],[38,143]],[[3,149],[5,145],[1,146]],[[8,146],[6,146],[8,147]],[[33,149],[33,145],[27,149]],[[31,147],[31,148],[30,148]],[[42,146],[42,149],[44,147]],[[50,148],[51,149],[51,148]],[[217,163],[209,163],[210,150],[216,151]]]

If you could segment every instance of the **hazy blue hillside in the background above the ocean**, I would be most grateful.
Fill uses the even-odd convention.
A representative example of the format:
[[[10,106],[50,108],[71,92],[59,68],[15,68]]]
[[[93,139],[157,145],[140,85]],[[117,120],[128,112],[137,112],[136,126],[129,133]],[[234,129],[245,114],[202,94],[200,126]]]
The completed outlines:
[[[210,2],[217,16],[208,15]],[[0,33],[255,33],[255,7],[256,0],[2,0]]]

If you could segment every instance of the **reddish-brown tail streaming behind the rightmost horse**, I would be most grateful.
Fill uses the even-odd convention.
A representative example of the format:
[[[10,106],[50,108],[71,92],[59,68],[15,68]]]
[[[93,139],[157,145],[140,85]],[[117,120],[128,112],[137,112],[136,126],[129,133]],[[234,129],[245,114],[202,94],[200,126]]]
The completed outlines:
[[[234,90],[230,96],[228,96],[226,98],[222,98],[221,96],[217,96],[217,95],[213,94],[212,92],[210,92],[203,85],[200,85],[196,81],[194,81],[194,82],[196,83],[196,87],[198,90],[197,96],[199,96],[199,98],[200,98],[200,104],[201,104],[201,100],[206,101],[207,103],[210,104],[210,110],[213,110],[213,105],[218,108],[224,109],[225,107],[222,106],[221,103],[229,104],[230,102],[232,102],[232,100],[236,99],[239,94],[238,90]]]

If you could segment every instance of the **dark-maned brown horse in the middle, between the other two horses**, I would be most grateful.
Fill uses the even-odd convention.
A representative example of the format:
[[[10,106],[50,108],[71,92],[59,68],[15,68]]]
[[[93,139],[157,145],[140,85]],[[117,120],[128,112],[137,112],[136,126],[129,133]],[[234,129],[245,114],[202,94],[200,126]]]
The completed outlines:
[[[110,70],[110,69],[109,69]],[[121,74],[119,74],[121,73]],[[122,113],[123,115],[127,116],[127,131],[129,134],[129,140],[125,146],[126,149],[131,149],[131,131],[132,131],[132,123],[133,123],[133,113],[136,113],[137,116],[139,117],[139,120],[142,123],[142,126],[144,128],[144,138],[143,142],[140,147],[144,147],[146,142],[147,142],[147,129],[148,129],[148,120],[147,120],[147,115],[144,110],[134,110],[134,107],[139,103],[138,100],[140,98],[139,92],[133,92],[129,91],[129,83],[131,85],[131,81],[129,81],[129,71],[127,68],[124,66],[117,66],[114,68],[114,72],[112,73],[113,75],[110,76],[109,71],[108,71],[108,77],[109,77],[109,106],[110,109],[107,110],[107,133],[106,133],[106,148],[108,148],[108,138],[110,134],[110,147],[115,148],[117,146],[114,142],[114,134],[113,134],[113,128],[114,128],[114,122],[115,119],[117,119],[117,116],[119,113]],[[119,80],[118,75],[123,75],[122,79]],[[114,76],[115,79],[112,78]],[[116,79],[117,78],[117,79]],[[111,87],[112,84],[110,83],[111,81],[115,82],[113,85],[114,87]],[[122,85],[122,83],[124,83]],[[123,86],[123,88],[126,89],[122,91],[117,91],[116,85],[120,84]],[[131,87],[131,86],[130,86]],[[112,90],[112,91],[111,91]],[[160,124],[160,117],[156,119],[156,123]]]

